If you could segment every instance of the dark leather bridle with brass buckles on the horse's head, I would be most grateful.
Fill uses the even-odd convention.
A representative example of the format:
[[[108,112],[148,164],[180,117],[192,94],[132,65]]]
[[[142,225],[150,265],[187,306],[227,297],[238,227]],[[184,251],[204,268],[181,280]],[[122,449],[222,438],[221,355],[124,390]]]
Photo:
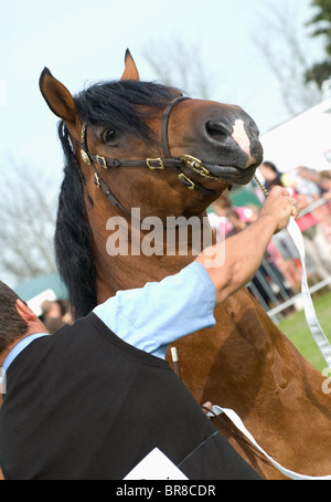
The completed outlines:
[[[215,196],[216,191],[211,190],[209,188],[203,187],[196,181],[190,179],[184,172],[182,172],[182,167],[189,167],[197,172],[200,176],[204,178],[210,178],[217,180],[221,184],[228,185],[225,181],[220,180],[210,175],[210,171],[205,169],[202,165],[202,161],[195,157],[190,155],[183,155],[182,157],[175,158],[172,157],[169,149],[169,142],[168,142],[168,124],[169,117],[172,108],[175,106],[177,103],[181,101],[190,100],[190,97],[179,96],[172,100],[168,106],[166,107],[162,118],[161,118],[161,144],[163,150],[163,158],[147,158],[145,160],[132,160],[132,159],[116,159],[116,158],[107,158],[100,155],[93,155],[88,151],[87,148],[87,126],[83,124],[82,132],[81,132],[81,142],[78,145],[81,147],[81,156],[85,164],[92,166],[95,171],[94,182],[95,185],[100,188],[103,194],[107,197],[107,199],[113,202],[114,206],[119,207],[122,211],[127,215],[130,212],[116,199],[111,190],[107,187],[105,181],[98,175],[97,166],[103,167],[104,169],[108,168],[117,168],[117,167],[148,167],[151,170],[163,170],[167,167],[174,169],[178,174],[179,180],[188,187],[190,190],[199,190],[206,196]]]

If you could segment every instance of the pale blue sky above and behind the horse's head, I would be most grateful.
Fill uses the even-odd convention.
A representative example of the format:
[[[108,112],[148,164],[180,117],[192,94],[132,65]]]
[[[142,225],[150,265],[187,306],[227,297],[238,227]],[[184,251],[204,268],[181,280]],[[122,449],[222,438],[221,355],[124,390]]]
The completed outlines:
[[[180,39],[199,48],[213,100],[243,106],[261,132],[277,125],[288,113],[253,33],[266,36],[263,17],[281,4],[299,27],[311,18],[311,0],[0,0],[1,178],[9,157],[62,177],[57,118],[39,91],[43,67],[76,93],[120,77],[126,48],[143,80],[156,80],[147,46],[167,51]]]

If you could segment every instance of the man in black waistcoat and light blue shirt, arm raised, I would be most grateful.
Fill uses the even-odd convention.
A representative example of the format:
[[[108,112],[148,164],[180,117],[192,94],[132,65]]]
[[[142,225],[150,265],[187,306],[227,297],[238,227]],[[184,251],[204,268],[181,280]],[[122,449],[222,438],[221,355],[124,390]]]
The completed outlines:
[[[0,283],[4,479],[120,480],[156,448],[189,479],[258,479],[170,369],[164,352],[215,324],[215,305],[254,276],[290,216],[298,217],[297,206],[276,187],[255,223],[216,244],[225,245],[223,265],[211,266],[211,249],[203,251],[180,273],[118,292],[52,336]]]

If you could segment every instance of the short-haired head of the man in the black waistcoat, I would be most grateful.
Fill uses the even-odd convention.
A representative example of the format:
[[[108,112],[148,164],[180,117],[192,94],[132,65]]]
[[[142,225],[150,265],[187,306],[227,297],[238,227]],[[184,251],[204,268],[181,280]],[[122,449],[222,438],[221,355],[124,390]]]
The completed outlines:
[[[0,353],[45,326],[14,291],[0,281]]]

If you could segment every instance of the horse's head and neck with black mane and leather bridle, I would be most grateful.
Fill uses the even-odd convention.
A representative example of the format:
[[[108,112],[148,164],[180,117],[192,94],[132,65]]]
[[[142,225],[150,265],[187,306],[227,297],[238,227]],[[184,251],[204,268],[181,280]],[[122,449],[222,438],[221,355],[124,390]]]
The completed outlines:
[[[242,108],[141,82],[129,51],[119,81],[73,97],[45,69],[40,87],[62,119],[66,168],[55,254],[77,316],[118,289],[142,285],[146,266],[154,271],[152,280],[162,276],[159,263],[145,264],[141,257],[135,263],[135,257],[126,257],[122,273],[119,258],[111,264],[109,217],[128,219],[132,208],[140,209],[141,220],[153,216],[162,222],[202,215],[229,185],[247,184],[261,161],[258,129]],[[162,273],[185,264],[170,261],[163,260]]]

